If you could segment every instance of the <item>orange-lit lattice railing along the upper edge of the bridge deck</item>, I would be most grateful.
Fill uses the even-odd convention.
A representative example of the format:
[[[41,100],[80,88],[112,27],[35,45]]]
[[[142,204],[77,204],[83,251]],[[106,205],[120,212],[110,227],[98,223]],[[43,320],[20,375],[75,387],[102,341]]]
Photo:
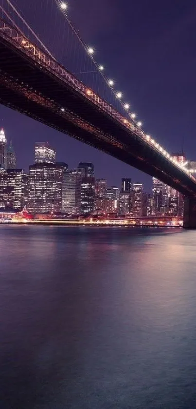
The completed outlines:
[[[84,97],[89,99],[98,107],[101,107],[108,115],[120,122],[125,128],[129,129],[134,135],[141,138],[147,145],[150,145],[155,151],[159,152],[161,156],[167,159],[169,162],[173,162],[178,168],[181,168],[183,172],[194,179],[193,175],[190,175],[188,169],[183,168],[182,165],[176,161],[172,156],[169,155],[166,150],[164,150],[160,144],[158,144],[149,135],[146,135],[143,130],[137,125],[134,120],[129,120],[118,111],[116,111],[107,101],[101,98],[99,95],[94,93],[92,89],[87,87],[83,82],[74,77],[71,72],[65,69],[64,66],[59,64],[54,58],[51,58],[49,54],[40,50],[34,43],[22,35],[15,27],[11,26],[4,19],[0,19],[0,36],[6,38],[6,40],[14,43],[14,45],[22,50],[25,54],[30,56],[35,60],[36,63],[42,65],[43,67],[49,69],[58,78],[63,79],[67,84],[69,84],[76,91],[80,92]],[[61,107],[63,111],[64,108]]]

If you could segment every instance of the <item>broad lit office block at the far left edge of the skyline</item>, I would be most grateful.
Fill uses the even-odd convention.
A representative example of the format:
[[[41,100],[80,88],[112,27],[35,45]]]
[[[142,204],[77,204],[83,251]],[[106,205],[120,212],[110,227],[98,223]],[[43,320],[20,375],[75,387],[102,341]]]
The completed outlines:
[[[27,206],[29,175],[23,169],[8,169],[0,177],[0,207],[21,209]]]

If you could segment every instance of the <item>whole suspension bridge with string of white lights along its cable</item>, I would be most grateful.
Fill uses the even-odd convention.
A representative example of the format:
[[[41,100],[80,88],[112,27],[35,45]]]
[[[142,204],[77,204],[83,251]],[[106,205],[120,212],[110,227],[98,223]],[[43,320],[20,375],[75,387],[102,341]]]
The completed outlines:
[[[65,31],[71,32],[64,64],[10,0],[0,5],[0,103],[175,188],[185,196],[184,226],[195,228],[196,179],[143,131],[122,93],[94,59],[93,48],[81,39],[66,4],[53,3]]]

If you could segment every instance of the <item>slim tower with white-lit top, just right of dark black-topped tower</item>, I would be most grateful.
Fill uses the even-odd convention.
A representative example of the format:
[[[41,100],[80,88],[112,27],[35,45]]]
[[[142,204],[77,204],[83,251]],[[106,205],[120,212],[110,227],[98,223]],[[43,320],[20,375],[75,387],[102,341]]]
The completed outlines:
[[[133,184],[133,216],[141,217],[147,216],[148,208],[148,197],[147,194],[143,192],[142,183]]]

